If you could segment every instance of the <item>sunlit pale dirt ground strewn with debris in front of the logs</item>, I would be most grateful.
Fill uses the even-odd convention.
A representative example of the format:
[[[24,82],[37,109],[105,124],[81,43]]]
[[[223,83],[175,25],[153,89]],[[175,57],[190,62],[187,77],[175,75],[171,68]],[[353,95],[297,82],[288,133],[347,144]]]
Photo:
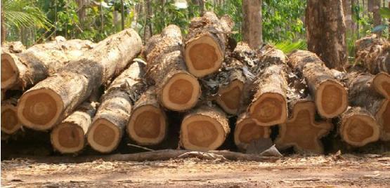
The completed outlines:
[[[389,154],[294,155],[275,162],[50,161],[1,161],[1,187],[390,187]]]

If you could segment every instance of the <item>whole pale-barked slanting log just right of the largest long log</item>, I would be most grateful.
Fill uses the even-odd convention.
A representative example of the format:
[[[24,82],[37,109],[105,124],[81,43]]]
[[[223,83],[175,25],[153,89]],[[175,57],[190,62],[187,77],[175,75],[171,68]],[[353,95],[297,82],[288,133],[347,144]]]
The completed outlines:
[[[132,102],[146,88],[143,83],[144,67],[143,62],[134,62],[105,91],[87,133],[88,143],[96,151],[112,152],[122,140]]]

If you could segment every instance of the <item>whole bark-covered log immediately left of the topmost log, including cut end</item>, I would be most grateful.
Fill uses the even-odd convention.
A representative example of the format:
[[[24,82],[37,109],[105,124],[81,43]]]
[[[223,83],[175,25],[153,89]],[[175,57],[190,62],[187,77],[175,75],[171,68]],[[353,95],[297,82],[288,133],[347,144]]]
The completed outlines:
[[[176,25],[164,28],[147,44],[148,73],[157,87],[157,99],[163,107],[174,111],[193,108],[200,98],[197,78],[187,72],[181,55],[181,30]]]

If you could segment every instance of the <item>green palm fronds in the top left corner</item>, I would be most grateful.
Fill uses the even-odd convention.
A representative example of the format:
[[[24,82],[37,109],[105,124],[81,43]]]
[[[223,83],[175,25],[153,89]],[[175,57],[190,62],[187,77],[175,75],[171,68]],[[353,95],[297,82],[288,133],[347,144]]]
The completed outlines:
[[[48,29],[50,26],[46,15],[34,6],[31,0],[1,1],[1,43],[6,41],[6,28],[38,27]]]

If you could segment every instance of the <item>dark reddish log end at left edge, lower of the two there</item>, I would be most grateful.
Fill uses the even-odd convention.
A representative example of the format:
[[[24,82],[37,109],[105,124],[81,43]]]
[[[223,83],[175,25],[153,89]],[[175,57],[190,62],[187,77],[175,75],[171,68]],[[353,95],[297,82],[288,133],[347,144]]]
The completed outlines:
[[[16,114],[17,104],[18,100],[16,98],[10,98],[1,102],[1,131],[8,135],[16,133],[22,127]]]

